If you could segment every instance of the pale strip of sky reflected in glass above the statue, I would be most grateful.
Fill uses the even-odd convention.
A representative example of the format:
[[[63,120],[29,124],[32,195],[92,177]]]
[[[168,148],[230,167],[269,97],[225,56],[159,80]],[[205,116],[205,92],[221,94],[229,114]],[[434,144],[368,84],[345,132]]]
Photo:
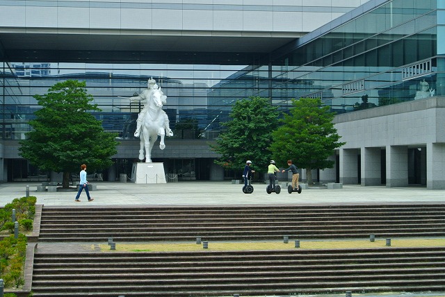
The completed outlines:
[[[246,65],[51,63],[51,75],[88,71],[115,75],[156,76],[179,80],[183,84],[204,83],[212,87],[245,67]]]

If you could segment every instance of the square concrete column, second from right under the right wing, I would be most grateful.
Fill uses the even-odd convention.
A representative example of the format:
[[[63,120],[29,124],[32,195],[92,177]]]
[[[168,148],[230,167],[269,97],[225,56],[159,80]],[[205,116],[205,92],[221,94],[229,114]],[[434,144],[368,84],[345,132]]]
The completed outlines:
[[[387,146],[387,187],[408,186],[407,146]]]

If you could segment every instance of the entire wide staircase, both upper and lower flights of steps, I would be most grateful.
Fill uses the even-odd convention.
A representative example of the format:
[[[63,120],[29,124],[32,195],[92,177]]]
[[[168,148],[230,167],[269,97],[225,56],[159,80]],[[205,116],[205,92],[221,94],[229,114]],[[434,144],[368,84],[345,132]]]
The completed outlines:
[[[445,246],[212,251],[212,241],[444,237],[444,205],[43,207],[40,296],[283,296],[445,292]],[[194,252],[119,251],[129,241],[209,241]],[[96,251],[113,237],[117,251]],[[90,246],[70,248],[67,241]],[[394,241],[393,241],[394,242]],[[381,242],[380,242],[381,243]]]

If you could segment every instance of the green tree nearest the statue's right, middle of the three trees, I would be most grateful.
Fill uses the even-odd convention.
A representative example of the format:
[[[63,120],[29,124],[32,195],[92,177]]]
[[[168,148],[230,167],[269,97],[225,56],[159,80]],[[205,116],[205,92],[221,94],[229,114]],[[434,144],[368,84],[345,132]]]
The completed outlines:
[[[221,155],[215,163],[225,169],[240,171],[246,160],[252,160],[252,169],[266,171],[272,155],[268,150],[272,139],[270,133],[279,124],[278,114],[270,99],[250,97],[236,101],[229,114],[232,120],[222,124],[227,127],[227,132],[211,146]]]

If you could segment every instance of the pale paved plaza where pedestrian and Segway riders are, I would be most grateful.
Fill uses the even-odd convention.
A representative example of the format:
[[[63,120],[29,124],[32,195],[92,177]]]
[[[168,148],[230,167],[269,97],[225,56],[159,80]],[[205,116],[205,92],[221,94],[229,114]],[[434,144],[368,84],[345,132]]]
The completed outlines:
[[[95,201],[88,202],[85,192],[81,202],[74,202],[76,192],[37,192],[41,183],[0,184],[0,206],[14,198],[29,194],[37,203],[49,206],[78,205],[285,205],[285,204],[339,204],[339,203],[445,203],[445,190],[428,190],[425,187],[387,188],[343,185],[343,189],[309,188],[301,194],[267,194],[266,185],[254,184],[252,194],[244,194],[243,185],[224,182],[187,181],[167,184],[134,184],[94,182],[97,191],[90,191]],[[93,183],[92,183],[93,184]]]

